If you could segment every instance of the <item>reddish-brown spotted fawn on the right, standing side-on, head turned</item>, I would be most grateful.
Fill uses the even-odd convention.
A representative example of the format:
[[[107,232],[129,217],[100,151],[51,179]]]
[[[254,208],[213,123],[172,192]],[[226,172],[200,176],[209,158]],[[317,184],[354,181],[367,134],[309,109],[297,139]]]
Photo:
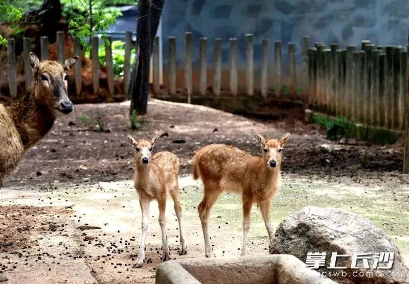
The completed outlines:
[[[209,237],[209,213],[217,197],[223,191],[241,194],[243,202],[243,247],[246,255],[250,211],[253,203],[260,205],[270,242],[273,237],[270,202],[281,183],[281,152],[290,134],[280,139],[265,139],[256,132],[263,156],[254,157],[238,148],[212,144],[200,148],[193,158],[193,178],[201,177],[205,196],[197,210],[205,237],[206,257],[214,257]],[[269,246],[270,247],[270,246]]]

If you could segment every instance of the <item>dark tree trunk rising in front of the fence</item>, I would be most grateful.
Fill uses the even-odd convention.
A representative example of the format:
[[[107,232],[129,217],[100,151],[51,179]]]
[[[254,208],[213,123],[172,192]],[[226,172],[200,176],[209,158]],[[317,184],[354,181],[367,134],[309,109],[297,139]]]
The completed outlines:
[[[137,19],[137,60],[129,83],[130,114],[146,114],[149,97],[150,56],[165,0],[140,0]]]

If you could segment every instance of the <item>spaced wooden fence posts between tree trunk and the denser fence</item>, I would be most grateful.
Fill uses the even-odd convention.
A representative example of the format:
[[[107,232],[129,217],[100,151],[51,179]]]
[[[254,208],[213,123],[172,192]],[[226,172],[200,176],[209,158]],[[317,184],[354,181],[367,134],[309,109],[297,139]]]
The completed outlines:
[[[247,96],[254,96],[256,93],[260,93],[262,97],[267,97],[274,94],[276,97],[280,97],[282,94],[283,87],[283,66],[282,66],[282,42],[280,40],[274,41],[274,62],[269,59],[268,45],[269,40],[263,39],[261,42],[261,66],[256,73],[254,67],[254,40],[253,34],[245,35],[245,90],[242,94]],[[177,66],[176,66],[176,38],[171,36],[168,37],[168,50],[164,52],[167,55],[168,64],[166,73],[168,78],[163,80],[165,83],[165,88],[168,90],[170,96],[176,96],[176,90],[183,90],[182,93],[186,95],[186,100],[191,101],[192,95],[212,95],[220,96],[221,94],[221,81],[222,81],[222,58],[221,58],[221,44],[222,40],[220,38],[215,38],[211,42],[213,44],[213,58],[212,70],[209,72],[210,68],[208,67],[208,44],[209,40],[206,37],[199,39],[199,80],[194,86],[195,83],[193,78],[193,66],[192,66],[192,33],[185,33],[184,39],[184,62],[183,62],[183,83],[179,83],[177,86]],[[305,43],[305,44],[304,44]],[[238,89],[238,50],[237,50],[237,39],[230,39],[230,49],[229,49],[229,87],[228,92],[232,96],[237,96],[240,94]],[[307,86],[307,76],[306,68],[303,60],[303,71],[302,75],[298,79],[297,77],[297,63],[296,63],[296,45],[292,42],[288,43],[288,63],[289,63],[289,74],[288,74],[288,87],[291,97],[296,97],[297,87]],[[303,55],[307,57],[308,54],[308,37],[303,38]],[[160,50],[158,48],[158,39],[154,41],[153,45],[153,94],[159,95],[161,90],[161,78],[160,74],[162,66],[159,64]],[[303,57],[304,58],[304,57]],[[274,82],[270,84],[268,81],[271,78],[272,74],[269,74],[271,71],[269,67],[274,64]],[[305,69],[305,71],[304,71]],[[165,73],[165,72],[164,72]],[[212,78],[208,78],[208,75],[211,74]],[[255,76],[259,76],[260,85],[255,86]],[[297,81],[298,80],[298,81]],[[209,84],[212,82],[212,85]],[[298,85],[299,84],[299,85]],[[211,93],[208,92],[208,89],[211,89]],[[274,90],[274,92],[272,92]]]

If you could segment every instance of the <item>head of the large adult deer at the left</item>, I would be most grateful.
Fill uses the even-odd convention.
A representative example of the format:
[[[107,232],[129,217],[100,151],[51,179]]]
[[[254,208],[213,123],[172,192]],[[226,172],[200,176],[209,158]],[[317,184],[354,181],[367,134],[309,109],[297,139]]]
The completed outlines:
[[[30,66],[34,74],[31,95],[37,104],[54,113],[69,114],[73,111],[73,103],[68,98],[68,75],[64,71],[72,69],[77,61],[78,56],[65,60],[62,65],[49,60],[40,62],[34,53],[30,53]]]

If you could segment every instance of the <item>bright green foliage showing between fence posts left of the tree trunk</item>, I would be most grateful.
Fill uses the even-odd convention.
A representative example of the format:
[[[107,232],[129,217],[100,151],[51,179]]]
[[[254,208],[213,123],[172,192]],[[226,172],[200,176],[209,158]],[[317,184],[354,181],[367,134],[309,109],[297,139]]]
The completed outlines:
[[[120,40],[112,41],[112,62],[113,62],[113,73],[120,78],[124,76],[124,64],[125,64],[125,43]],[[84,55],[89,57],[90,51],[87,50]],[[131,50],[131,54],[135,54],[135,49]],[[98,59],[101,66],[106,65],[105,60],[105,45],[100,45],[98,47]],[[131,65],[135,60],[134,56],[131,56]]]

